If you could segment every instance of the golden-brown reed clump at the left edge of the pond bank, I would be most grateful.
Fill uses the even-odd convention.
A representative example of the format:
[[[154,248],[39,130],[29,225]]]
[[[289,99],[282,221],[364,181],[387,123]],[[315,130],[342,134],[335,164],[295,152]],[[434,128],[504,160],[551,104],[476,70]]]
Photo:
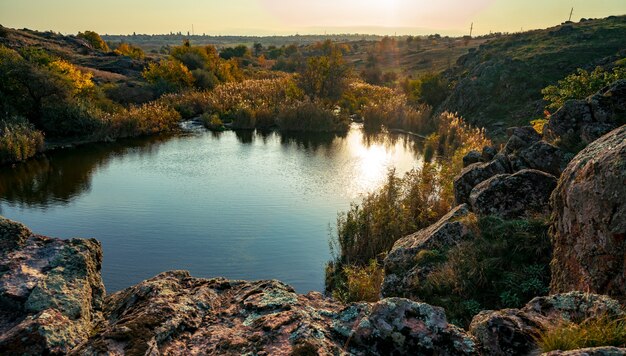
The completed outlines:
[[[26,120],[0,122],[0,164],[24,161],[43,147],[43,134]]]

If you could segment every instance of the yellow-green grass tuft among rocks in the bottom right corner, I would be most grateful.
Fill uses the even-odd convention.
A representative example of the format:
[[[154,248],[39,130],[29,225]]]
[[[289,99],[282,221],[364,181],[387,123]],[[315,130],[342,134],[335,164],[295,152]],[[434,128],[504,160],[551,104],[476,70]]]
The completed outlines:
[[[564,322],[543,330],[537,337],[537,344],[542,352],[599,346],[626,347],[626,320],[604,315],[581,323]]]

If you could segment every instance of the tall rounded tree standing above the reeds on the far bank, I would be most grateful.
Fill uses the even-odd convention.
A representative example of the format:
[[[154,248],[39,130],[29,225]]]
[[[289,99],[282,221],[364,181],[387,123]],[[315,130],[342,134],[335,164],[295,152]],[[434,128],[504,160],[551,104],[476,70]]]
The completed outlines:
[[[311,98],[337,101],[348,86],[350,67],[339,48],[325,56],[309,58],[298,75],[298,86]]]

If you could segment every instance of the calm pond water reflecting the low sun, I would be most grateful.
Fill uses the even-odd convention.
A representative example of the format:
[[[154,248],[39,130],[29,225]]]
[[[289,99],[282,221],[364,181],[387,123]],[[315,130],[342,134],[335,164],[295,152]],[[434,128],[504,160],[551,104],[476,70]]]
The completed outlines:
[[[113,292],[162,271],[323,290],[337,213],[420,164],[405,136],[196,131],[59,151],[0,168],[0,214],[95,237]]]

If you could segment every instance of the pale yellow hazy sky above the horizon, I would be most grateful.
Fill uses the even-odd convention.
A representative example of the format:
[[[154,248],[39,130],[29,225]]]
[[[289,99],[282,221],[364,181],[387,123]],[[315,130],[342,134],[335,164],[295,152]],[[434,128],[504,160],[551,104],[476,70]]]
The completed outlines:
[[[76,33],[465,34],[626,14],[626,0],[0,0],[0,24]]]

